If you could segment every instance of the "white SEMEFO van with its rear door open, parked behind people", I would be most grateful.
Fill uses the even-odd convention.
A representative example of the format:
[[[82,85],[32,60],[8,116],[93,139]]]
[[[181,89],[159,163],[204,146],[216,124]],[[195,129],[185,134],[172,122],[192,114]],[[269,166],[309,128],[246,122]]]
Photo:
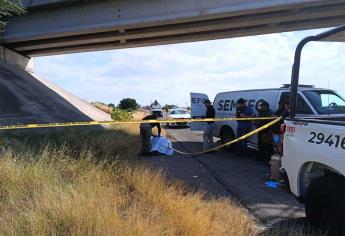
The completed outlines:
[[[236,101],[244,98],[248,106],[258,113],[258,105],[267,101],[274,112],[278,109],[278,102],[289,99],[290,85],[283,85],[276,89],[256,89],[223,92],[216,95],[213,107],[216,118],[236,117]],[[191,93],[192,118],[203,117],[206,108],[203,104],[208,96],[201,93]],[[345,100],[330,89],[315,88],[313,85],[300,85],[298,87],[297,116],[344,116]],[[192,131],[202,131],[203,123],[191,123]],[[236,137],[237,121],[222,121],[215,123],[213,135],[219,137],[221,143],[231,141]],[[254,127],[253,127],[254,128]],[[256,136],[248,140],[248,145],[257,147]]]

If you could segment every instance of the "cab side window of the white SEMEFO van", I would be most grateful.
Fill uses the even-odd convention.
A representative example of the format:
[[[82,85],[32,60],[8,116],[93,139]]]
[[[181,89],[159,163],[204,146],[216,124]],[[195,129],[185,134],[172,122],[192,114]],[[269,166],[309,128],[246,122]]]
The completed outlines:
[[[345,101],[331,90],[306,90],[304,96],[319,114],[344,114]]]

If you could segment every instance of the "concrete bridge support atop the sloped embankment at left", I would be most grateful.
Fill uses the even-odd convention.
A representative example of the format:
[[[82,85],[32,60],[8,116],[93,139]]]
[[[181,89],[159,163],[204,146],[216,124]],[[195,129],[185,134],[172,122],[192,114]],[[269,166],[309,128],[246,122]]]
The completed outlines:
[[[19,53],[12,51],[4,46],[0,45],[0,61],[7,64],[15,65],[20,69],[24,69],[29,72],[35,71],[34,58],[20,55]]]

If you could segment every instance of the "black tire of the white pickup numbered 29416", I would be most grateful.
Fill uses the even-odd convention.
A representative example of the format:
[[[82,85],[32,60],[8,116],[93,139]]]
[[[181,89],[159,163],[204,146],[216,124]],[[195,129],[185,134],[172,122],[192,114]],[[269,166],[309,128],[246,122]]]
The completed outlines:
[[[330,235],[345,234],[345,178],[329,175],[314,180],[305,198],[309,222],[329,230]]]

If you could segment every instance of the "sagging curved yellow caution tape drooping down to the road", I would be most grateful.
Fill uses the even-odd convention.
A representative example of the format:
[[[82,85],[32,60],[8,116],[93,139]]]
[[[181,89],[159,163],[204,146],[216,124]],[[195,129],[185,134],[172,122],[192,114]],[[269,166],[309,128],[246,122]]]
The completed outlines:
[[[275,120],[271,121],[270,123],[267,123],[266,125],[263,125],[261,126],[260,128],[257,128],[256,130],[253,130],[251,132],[249,132],[248,134],[245,134],[239,138],[236,138],[230,142],[227,142],[227,143],[224,143],[222,145],[219,145],[217,147],[214,147],[214,148],[211,148],[211,149],[208,149],[208,150],[205,150],[205,151],[199,151],[199,152],[182,152],[182,151],[179,151],[177,149],[174,149],[174,148],[171,148],[172,150],[174,150],[175,152],[177,153],[180,153],[180,154],[183,154],[183,155],[200,155],[200,154],[205,154],[205,153],[208,153],[208,152],[212,152],[212,151],[216,151],[216,150],[219,150],[223,147],[226,147],[226,146],[229,146],[231,144],[234,144],[234,143],[237,143],[243,139],[246,139],[254,134],[257,134],[259,133],[260,131],[264,130],[264,129],[267,129],[271,126],[273,126],[274,124],[278,123],[280,120],[282,119],[282,117],[279,117],[279,118],[275,118]]]

